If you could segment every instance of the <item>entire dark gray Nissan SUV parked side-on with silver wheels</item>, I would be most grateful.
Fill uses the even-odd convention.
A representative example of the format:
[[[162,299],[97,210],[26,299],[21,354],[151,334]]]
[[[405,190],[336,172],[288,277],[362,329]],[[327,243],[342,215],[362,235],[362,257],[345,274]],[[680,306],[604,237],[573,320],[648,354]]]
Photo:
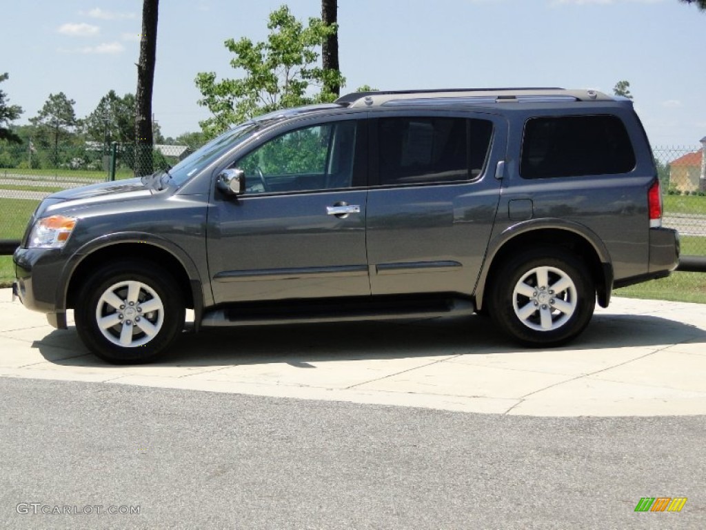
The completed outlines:
[[[345,95],[241,124],[170,168],[44,199],[23,304],[110,363],[194,329],[489,314],[528,346],[667,276],[652,152],[592,90]]]

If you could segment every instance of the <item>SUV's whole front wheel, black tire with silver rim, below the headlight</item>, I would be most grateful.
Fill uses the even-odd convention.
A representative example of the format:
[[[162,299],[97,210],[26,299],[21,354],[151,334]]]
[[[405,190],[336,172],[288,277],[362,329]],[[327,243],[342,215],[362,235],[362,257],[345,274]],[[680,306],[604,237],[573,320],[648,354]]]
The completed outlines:
[[[121,260],[88,278],[74,319],[90,351],[108,363],[126,365],[148,363],[169,348],[184,329],[185,314],[184,296],[167,271],[145,261]]]

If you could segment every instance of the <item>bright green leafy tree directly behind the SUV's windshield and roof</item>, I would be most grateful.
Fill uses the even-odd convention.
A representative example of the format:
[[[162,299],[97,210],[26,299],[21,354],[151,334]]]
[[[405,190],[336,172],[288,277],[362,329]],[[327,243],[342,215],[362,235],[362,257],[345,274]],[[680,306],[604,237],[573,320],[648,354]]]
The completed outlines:
[[[270,13],[268,29],[267,42],[253,43],[246,37],[225,41],[225,47],[235,54],[231,66],[244,71],[241,78],[216,81],[214,72],[196,76],[196,86],[203,95],[198,104],[213,114],[200,122],[207,139],[258,114],[335,99],[325,90],[318,95],[309,92],[311,86],[321,89],[324,79],[338,86],[344,82],[339,72],[324,74],[317,65],[317,49],[335,32],[335,26],[309,18],[304,27],[287,6],[282,6]]]

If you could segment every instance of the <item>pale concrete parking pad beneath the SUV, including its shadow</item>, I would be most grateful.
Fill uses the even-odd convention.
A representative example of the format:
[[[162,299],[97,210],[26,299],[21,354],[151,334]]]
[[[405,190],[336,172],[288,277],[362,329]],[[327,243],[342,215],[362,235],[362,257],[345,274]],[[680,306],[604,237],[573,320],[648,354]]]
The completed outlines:
[[[73,322],[69,315],[70,324]],[[110,382],[527,416],[706,414],[706,305],[617,298],[568,346],[484,317],[185,331],[116,367],[0,290],[0,377]]]

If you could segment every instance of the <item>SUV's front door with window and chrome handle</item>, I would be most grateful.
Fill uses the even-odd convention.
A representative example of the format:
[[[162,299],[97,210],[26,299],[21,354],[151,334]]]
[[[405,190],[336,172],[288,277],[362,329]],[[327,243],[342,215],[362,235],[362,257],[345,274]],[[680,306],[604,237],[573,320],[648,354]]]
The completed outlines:
[[[370,294],[358,129],[352,119],[309,124],[232,164],[246,192],[216,192],[208,222],[216,303]]]

